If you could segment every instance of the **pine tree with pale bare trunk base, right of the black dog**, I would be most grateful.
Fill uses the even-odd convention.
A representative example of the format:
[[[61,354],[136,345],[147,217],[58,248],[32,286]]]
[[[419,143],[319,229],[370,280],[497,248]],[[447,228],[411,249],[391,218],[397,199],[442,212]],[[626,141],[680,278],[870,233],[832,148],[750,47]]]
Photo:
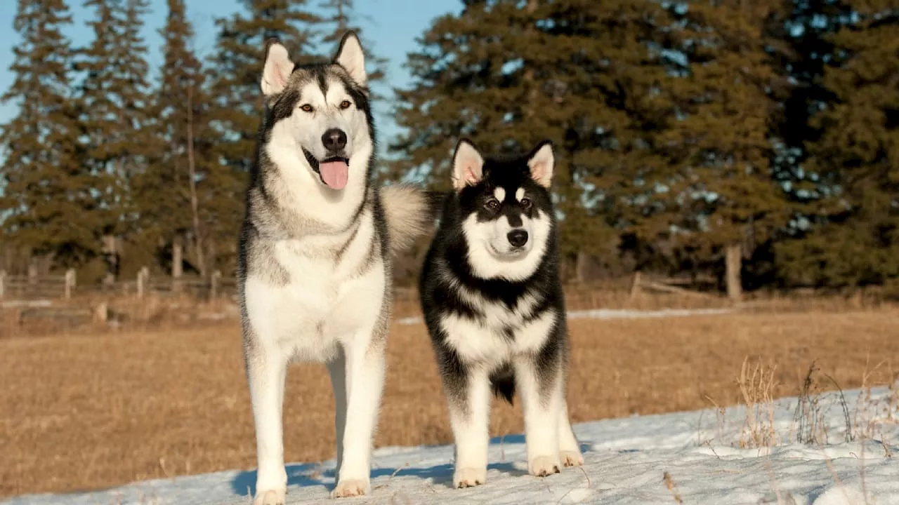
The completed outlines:
[[[661,90],[673,103],[655,137],[663,163],[639,177],[628,173],[638,186],[657,188],[638,205],[650,216],[641,219],[644,233],[667,235],[700,259],[725,260],[733,298],[742,294],[742,256],[788,221],[770,166],[777,75],[770,53],[776,41],[766,27],[780,8],[761,0],[672,6],[672,49],[682,58]]]

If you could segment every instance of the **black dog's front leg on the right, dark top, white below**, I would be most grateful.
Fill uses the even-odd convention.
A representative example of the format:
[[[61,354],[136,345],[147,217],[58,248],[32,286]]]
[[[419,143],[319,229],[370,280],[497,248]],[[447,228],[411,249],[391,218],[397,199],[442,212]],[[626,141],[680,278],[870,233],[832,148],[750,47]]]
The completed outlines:
[[[561,467],[558,421],[563,394],[560,361],[526,355],[514,363],[524,408],[528,471],[540,477],[557,474]]]

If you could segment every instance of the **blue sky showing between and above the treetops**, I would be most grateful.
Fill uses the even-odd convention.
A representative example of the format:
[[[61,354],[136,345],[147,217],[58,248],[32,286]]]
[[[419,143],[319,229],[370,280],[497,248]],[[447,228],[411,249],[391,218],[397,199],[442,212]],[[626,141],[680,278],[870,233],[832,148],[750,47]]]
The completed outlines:
[[[318,4],[311,0],[310,5]],[[0,0],[0,90],[5,91],[13,83],[13,75],[8,71],[13,63],[13,47],[19,43],[19,35],[13,31],[13,18],[17,2]],[[72,11],[74,23],[66,34],[75,45],[89,43],[93,33],[85,22],[93,12],[82,5],[84,0],[67,0]],[[151,68],[156,69],[162,61],[162,38],[159,29],[165,24],[165,0],[150,0],[150,12],[146,17],[144,36],[150,49]],[[357,0],[356,11],[361,19],[362,36],[366,42],[373,44],[373,49],[383,58],[389,60],[387,66],[387,85],[404,86],[409,82],[409,75],[403,68],[405,55],[415,49],[415,38],[430,26],[433,18],[449,12],[458,12],[461,3],[458,0]],[[187,0],[188,17],[196,32],[194,45],[203,55],[215,49],[215,18],[230,15],[240,9],[237,0]],[[331,48],[327,49],[328,51]],[[2,93],[0,91],[0,93]],[[386,90],[385,90],[386,91]],[[392,96],[388,93],[387,96]],[[397,133],[396,125],[387,111],[390,103],[382,101],[376,109],[378,113],[378,129],[381,146]],[[0,104],[0,124],[5,123],[15,114],[12,104]]]

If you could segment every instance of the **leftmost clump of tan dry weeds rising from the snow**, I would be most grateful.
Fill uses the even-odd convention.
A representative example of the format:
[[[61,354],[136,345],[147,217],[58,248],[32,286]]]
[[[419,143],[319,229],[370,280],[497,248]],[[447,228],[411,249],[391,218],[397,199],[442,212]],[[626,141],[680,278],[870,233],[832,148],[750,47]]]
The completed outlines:
[[[774,398],[778,385],[774,379],[776,369],[777,366],[766,368],[761,363],[751,368],[749,358],[743,359],[737,380],[746,405],[740,447],[773,447],[778,444],[774,426]]]

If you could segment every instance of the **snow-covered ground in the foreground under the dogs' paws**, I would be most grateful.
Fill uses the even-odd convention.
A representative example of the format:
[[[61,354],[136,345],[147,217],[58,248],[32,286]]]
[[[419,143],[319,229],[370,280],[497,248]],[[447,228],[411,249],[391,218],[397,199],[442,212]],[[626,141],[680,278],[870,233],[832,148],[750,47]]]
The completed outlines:
[[[583,468],[546,478],[526,472],[524,439],[494,439],[487,483],[449,487],[452,447],[385,447],[375,452],[371,495],[338,503],[702,503],[899,504],[899,401],[895,391],[860,391],[819,398],[814,421],[822,442],[797,443],[796,398],[762,408],[775,447],[741,447],[744,408],[634,416],[574,426]],[[843,405],[848,409],[844,412]],[[756,411],[750,411],[756,412]],[[771,414],[769,416],[769,413]],[[294,424],[293,429],[298,429]],[[847,441],[847,434],[854,440]],[[862,436],[866,435],[867,436]],[[745,444],[743,444],[745,446]],[[289,465],[288,503],[323,503],[334,485],[334,462]],[[667,475],[667,477],[666,477]],[[252,471],[229,471],[132,483],[85,494],[31,495],[12,504],[246,504]]]

